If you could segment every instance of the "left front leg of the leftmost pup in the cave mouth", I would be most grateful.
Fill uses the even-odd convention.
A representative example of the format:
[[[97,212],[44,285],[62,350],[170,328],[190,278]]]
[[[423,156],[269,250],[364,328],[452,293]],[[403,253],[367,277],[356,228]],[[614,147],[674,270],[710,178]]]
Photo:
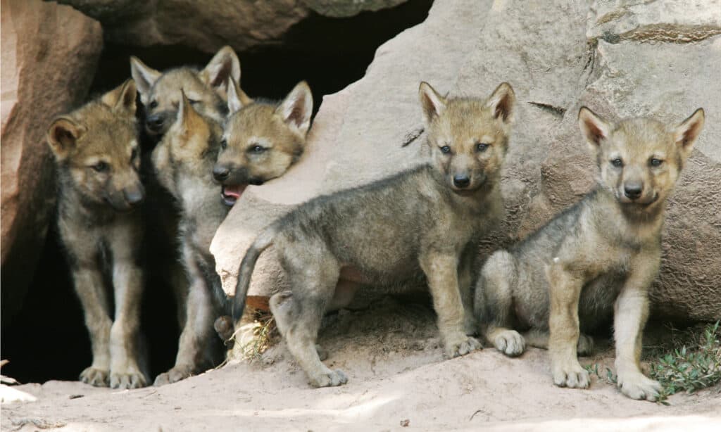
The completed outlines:
[[[80,380],[96,387],[110,384],[110,320],[109,306],[97,263],[81,263],[72,271],[85,325],[92,346],[92,364],[80,374]]]

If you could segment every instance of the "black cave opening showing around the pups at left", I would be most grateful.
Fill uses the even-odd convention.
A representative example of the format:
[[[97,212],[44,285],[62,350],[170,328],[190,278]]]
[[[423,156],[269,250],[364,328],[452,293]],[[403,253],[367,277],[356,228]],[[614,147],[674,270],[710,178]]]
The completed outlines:
[[[242,89],[251,97],[280,99],[301,80],[308,81],[317,112],[324,94],[358,81],[386,40],[428,16],[432,0],[411,0],[355,17],[311,14],[277,44],[239,51]],[[138,48],[105,43],[90,94],[112,89],[130,76],[128,58],[136,55],[152,68],[203,66],[212,53],[187,46]],[[141,331],[146,339],[152,377],[169,369],[177,353],[177,311],[167,275],[146,264]],[[7,311],[2,305],[2,313]],[[32,283],[19,312],[1,330],[1,357],[10,362],[3,374],[19,382],[76,380],[92,355],[79,300],[51,223]]]

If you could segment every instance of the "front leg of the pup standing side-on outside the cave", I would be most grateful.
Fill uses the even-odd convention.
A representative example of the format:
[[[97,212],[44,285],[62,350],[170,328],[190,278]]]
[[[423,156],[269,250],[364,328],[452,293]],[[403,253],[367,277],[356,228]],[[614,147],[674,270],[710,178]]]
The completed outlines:
[[[458,257],[451,253],[428,252],[420,257],[420,267],[428,279],[433,308],[438,314],[438,330],[448,357],[464,356],[481,348],[477,339],[466,336],[458,264]]]

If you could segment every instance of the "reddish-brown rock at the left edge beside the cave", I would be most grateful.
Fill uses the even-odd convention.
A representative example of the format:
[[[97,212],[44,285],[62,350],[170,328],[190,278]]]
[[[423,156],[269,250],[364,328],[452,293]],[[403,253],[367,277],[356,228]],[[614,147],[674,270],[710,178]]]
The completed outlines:
[[[100,24],[40,0],[2,0],[1,241],[3,323],[35,272],[55,187],[45,130],[87,95]]]

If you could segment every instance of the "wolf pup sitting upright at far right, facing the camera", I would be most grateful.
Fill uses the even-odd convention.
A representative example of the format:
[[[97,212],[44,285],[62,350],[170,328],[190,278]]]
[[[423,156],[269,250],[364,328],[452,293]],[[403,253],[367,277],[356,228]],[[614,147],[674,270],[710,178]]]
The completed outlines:
[[[526,340],[512,328],[530,328],[528,343],[549,349],[554,383],[579,388],[589,380],[576,351],[592,345],[580,330],[613,314],[618,386],[633,399],[655,400],[660,386],[639,366],[648,289],[660,266],[665,200],[704,111],[673,130],[645,118],[613,124],[586,107],[578,121],[596,156],[598,186],[510,251],[490,256],[475,309],[483,335],[499,351],[521,354]]]

